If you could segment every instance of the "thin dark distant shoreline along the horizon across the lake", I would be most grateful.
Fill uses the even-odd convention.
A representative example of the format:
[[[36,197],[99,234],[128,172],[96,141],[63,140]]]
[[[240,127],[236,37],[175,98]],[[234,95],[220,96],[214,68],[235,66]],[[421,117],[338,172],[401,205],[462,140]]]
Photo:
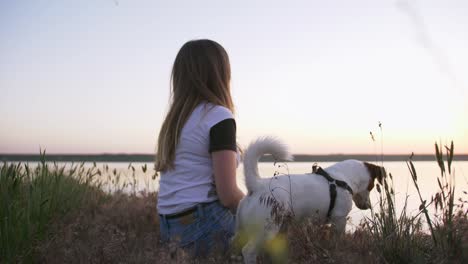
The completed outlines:
[[[346,159],[362,161],[407,161],[409,155],[374,155],[374,154],[329,154],[329,155],[294,155],[294,162],[336,162]],[[40,161],[38,154],[0,154],[1,162]],[[153,162],[152,154],[46,154],[48,162]],[[272,162],[271,156],[264,156],[261,162]],[[435,161],[433,154],[415,154],[413,161]],[[468,161],[468,154],[454,155],[454,161]]]

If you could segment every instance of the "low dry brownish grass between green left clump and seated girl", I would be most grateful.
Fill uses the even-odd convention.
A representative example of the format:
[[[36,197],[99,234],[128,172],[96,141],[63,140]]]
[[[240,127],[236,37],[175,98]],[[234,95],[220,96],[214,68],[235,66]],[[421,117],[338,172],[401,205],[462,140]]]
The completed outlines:
[[[86,208],[57,219],[37,247],[44,263],[220,263],[223,255],[192,259],[159,241],[156,194],[101,193]]]

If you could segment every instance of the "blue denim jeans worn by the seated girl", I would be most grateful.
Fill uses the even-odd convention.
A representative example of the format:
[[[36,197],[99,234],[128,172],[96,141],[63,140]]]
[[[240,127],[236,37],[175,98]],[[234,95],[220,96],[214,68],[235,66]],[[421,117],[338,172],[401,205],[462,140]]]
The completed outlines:
[[[226,252],[234,235],[234,215],[219,201],[199,204],[182,217],[159,215],[159,220],[162,241],[177,243],[195,256],[206,256],[215,248]]]

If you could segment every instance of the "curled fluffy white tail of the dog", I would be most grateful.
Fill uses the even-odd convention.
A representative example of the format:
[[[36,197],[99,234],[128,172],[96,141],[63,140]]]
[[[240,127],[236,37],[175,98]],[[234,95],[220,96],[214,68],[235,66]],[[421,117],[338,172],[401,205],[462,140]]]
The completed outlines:
[[[250,143],[244,153],[244,177],[245,185],[249,192],[257,189],[258,160],[264,154],[271,154],[276,161],[292,160],[292,155],[288,148],[278,139],[272,137],[262,137]]]

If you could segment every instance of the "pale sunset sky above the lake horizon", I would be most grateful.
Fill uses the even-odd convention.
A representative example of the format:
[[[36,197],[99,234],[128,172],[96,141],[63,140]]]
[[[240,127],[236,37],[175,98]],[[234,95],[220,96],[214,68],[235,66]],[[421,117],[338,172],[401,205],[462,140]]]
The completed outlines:
[[[154,153],[173,61],[199,38],[229,54],[244,147],[468,153],[466,14],[464,0],[0,0],[0,153]]]

